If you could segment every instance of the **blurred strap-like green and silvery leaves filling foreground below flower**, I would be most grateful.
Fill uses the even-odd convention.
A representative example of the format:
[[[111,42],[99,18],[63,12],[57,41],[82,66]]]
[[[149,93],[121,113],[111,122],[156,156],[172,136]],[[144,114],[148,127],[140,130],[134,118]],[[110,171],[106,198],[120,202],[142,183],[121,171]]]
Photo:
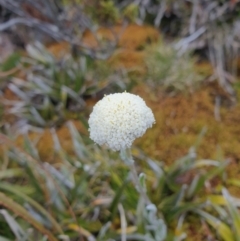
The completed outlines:
[[[38,240],[44,236],[49,240],[119,240],[125,219],[128,240],[165,240],[165,236],[160,238],[165,235],[163,220],[166,240],[183,240],[187,235],[184,224],[191,215],[196,223],[205,220],[216,238],[238,241],[240,200],[222,184],[211,192],[206,189],[212,180],[224,183],[228,162],[197,160],[193,147],[167,167],[134,149],[139,172],[144,168],[146,173],[140,175],[140,181],[143,186],[146,181],[148,196],[157,207],[157,216],[162,217],[157,224],[153,216],[143,212],[143,200],[118,154],[89,144],[72,123],[67,125],[75,154],[66,153],[52,131],[58,160],[54,164],[43,162],[27,137],[25,149],[21,149],[0,136],[9,146],[8,167],[0,171],[0,205],[5,210],[0,225],[9,227],[1,229],[2,237],[11,239],[14,235],[19,241],[33,240],[34,235]],[[149,228],[156,225],[158,232],[152,236]]]

